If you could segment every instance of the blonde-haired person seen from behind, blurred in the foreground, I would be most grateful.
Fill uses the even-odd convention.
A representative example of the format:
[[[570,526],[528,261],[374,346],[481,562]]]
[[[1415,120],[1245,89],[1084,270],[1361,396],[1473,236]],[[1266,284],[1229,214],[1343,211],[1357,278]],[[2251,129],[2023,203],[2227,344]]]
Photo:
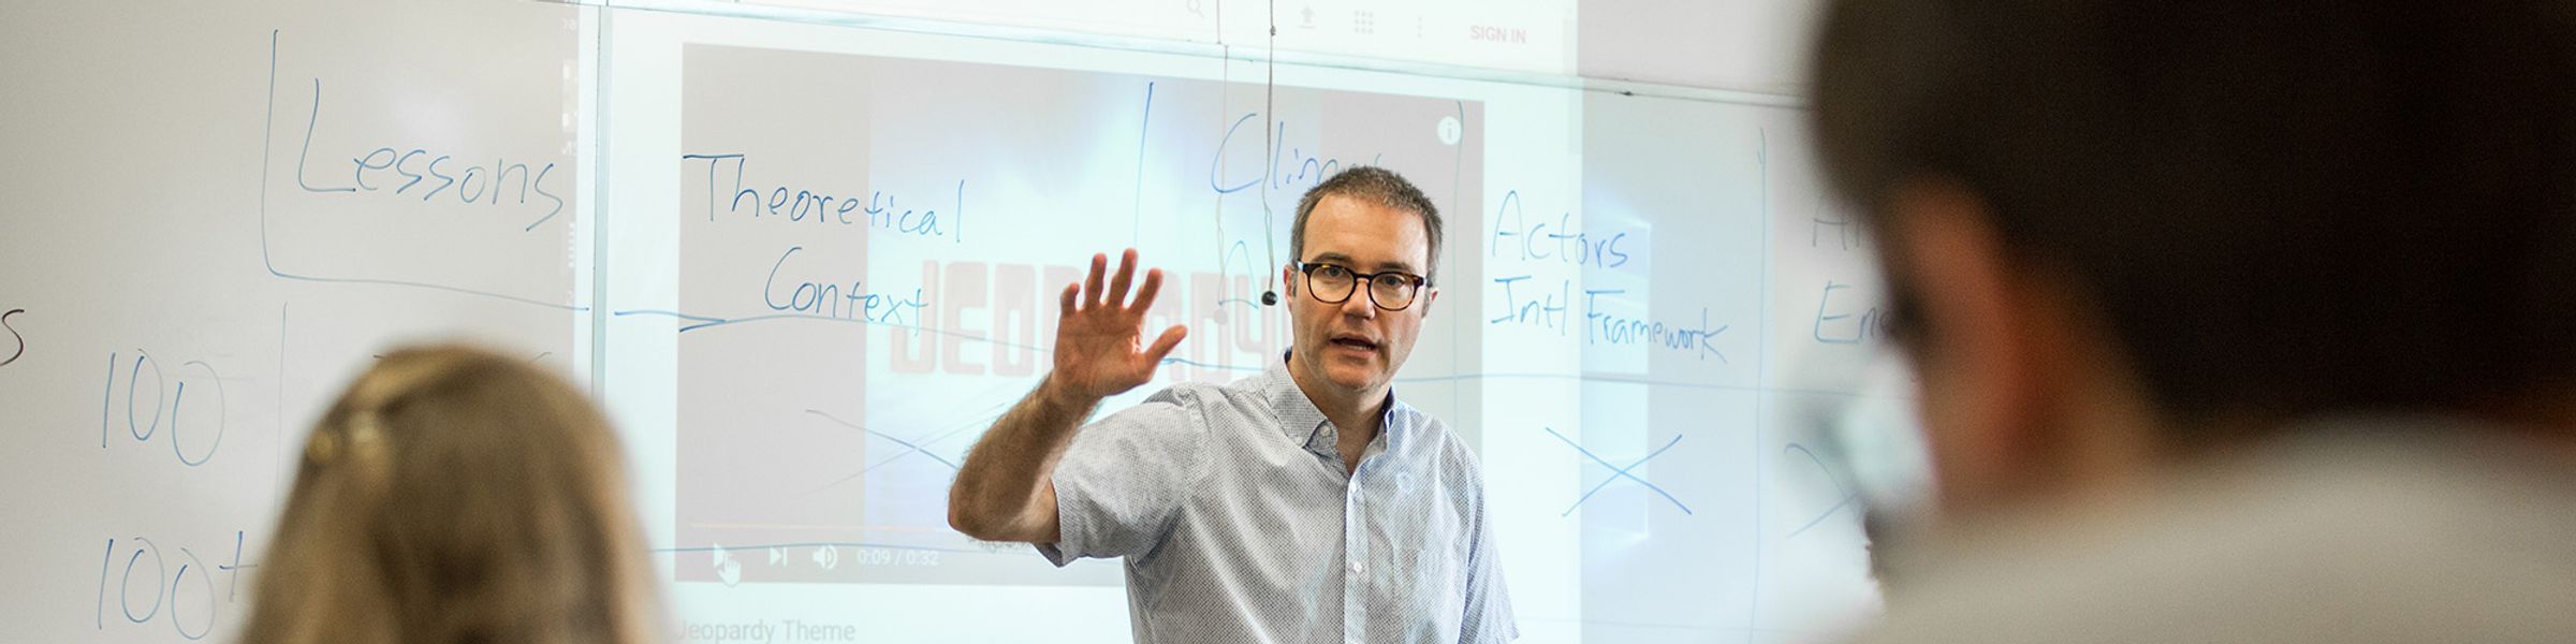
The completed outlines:
[[[304,443],[242,641],[659,641],[608,420],[471,348],[358,376]]]

